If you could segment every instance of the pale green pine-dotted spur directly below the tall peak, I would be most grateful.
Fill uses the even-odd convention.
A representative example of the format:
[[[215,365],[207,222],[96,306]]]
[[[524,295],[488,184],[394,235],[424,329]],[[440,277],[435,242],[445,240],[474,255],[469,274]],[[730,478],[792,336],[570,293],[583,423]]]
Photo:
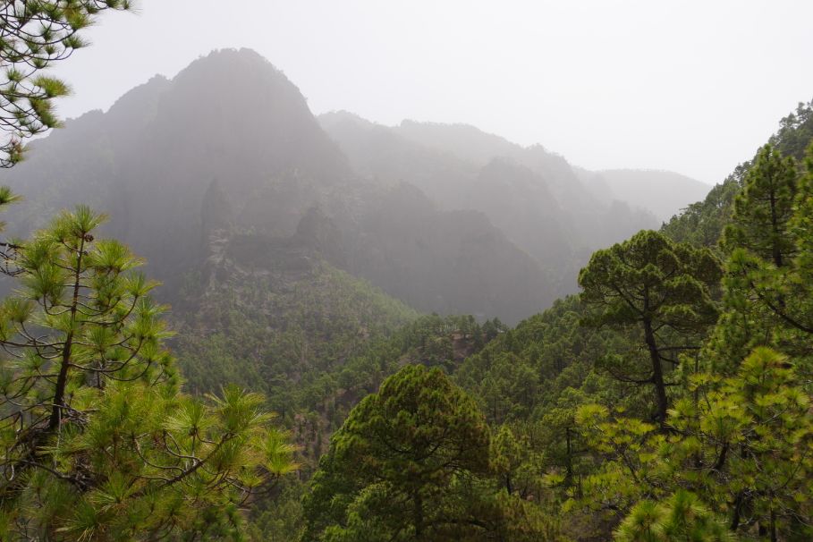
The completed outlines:
[[[418,318],[299,241],[211,233],[206,264],[174,305],[174,351],[192,390],[233,382],[266,392],[285,414],[292,389]]]

